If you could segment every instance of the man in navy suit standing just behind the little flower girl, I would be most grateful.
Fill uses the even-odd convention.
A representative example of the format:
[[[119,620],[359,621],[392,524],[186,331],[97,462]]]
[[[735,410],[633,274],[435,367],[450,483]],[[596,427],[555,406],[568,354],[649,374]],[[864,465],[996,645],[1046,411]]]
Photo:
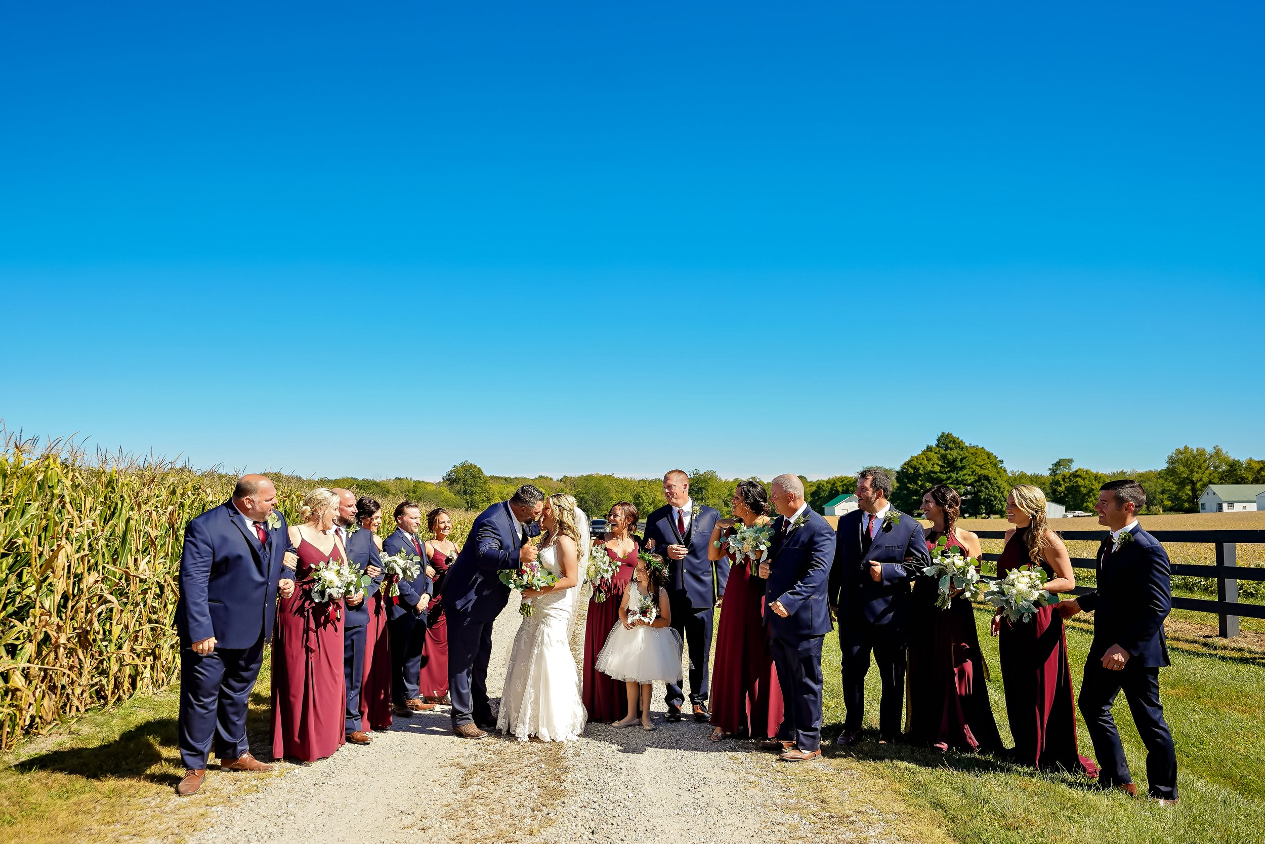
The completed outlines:
[[[706,721],[712,614],[729,581],[729,564],[707,559],[711,531],[720,512],[689,497],[689,476],[681,469],[663,476],[663,497],[668,505],[645,520],[643,547],[668,561],[672,626],[689,647],[689,702],[693,704],[694,720]],[[679,721],[684,702],[681,686],[668,683],[668,716],[664,720]]]

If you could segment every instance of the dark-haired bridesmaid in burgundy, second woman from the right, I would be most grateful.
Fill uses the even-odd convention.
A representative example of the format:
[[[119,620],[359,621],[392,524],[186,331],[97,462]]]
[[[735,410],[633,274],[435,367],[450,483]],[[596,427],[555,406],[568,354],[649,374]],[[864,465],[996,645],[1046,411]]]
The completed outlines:
[[[961,496],[944,483],[922,495],[922,515],[931,521],[927,550],[945,537],[964,557],[979,558],[979,537],[956,526]],[[988,667],[979,650],[970,599],[955,596],[936,606],[940,581],[918,577],[910,601],[910,734],[937,750],[999,753],[993,707],[988,702]]]

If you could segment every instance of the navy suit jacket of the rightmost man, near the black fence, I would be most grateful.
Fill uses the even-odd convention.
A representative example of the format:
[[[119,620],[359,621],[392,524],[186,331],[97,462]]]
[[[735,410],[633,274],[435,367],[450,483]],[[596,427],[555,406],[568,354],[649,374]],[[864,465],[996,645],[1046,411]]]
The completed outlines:
[[[1098,549],[1094,573],[1098,588],[1077,597],[1085,612],[1094,614],[1094,640],[1089,661],[1101,661],[1107,648],[1120,645],[1130,662],[1146,667],[1168,666],[1164,619],[1173,609],[1169,590],[1169,554],[1151,534],[1137,525],[1133,540],[1111,550],[1104,540]]]

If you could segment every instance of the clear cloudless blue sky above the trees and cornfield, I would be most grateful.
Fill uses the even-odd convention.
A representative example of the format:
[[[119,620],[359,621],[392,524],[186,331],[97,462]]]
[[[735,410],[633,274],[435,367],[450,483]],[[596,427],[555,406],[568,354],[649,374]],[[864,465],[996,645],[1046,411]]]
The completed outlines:
[[[0,418],[195,466],[1265,457],[1259,4],[10,4]]]

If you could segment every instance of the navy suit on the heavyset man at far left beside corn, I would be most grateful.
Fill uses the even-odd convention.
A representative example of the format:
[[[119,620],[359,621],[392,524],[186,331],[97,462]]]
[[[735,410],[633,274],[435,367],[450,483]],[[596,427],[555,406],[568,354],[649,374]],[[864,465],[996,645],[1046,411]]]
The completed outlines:
[[[282,566],[290,549],[286,520],[261,544],[229,500],[185,526],[180,557],[180,758],[202,769],[215,744],[221,760],[250,750],[245,739],[247,701],[263,663],[263,644],[277,619],[277,583],[293,580]],[[192,644],[215,636],[206,655]]]

